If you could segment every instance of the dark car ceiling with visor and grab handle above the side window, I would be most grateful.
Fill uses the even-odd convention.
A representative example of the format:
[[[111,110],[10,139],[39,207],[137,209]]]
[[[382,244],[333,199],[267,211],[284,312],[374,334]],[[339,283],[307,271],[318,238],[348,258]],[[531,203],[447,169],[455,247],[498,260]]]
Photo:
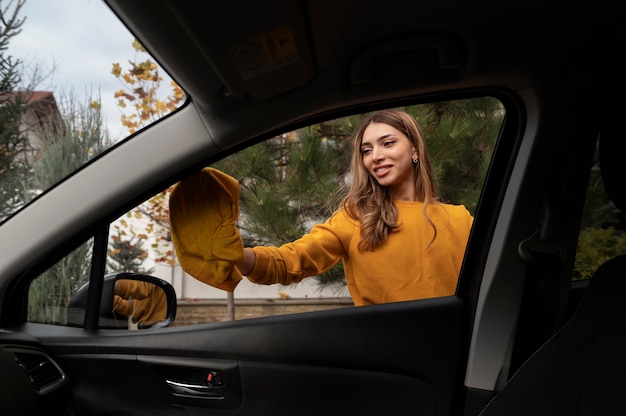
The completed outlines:
[[[363,102],[590,75],[590,62],[621,48],[607,1],[107,3],[222,147]],[[255,48],[262,59],[251,58]],[[572,60],[580,73],[564,69]]]

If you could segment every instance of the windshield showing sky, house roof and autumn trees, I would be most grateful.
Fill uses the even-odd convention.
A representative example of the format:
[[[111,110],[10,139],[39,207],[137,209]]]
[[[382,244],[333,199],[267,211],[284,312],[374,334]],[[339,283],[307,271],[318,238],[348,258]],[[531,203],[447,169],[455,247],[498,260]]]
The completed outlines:
[[[0,3],[0,222],[184,93],[102,1]]]

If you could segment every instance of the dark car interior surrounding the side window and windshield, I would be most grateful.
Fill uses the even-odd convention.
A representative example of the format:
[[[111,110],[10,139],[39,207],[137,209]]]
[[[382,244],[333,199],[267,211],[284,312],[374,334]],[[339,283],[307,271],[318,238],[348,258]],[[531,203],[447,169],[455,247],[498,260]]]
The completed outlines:
[[[621,2],[104,4],[186,99],[0,222],[1,414],[624,413]],[[116,221],[200,169],[376,110],[487,99],[453,296],[177,324],[171,281],[107,273]],[[435,159],[455,134],[433,133]],[[72,256],[84,283],[48,310]],[[131,328],[120,284],[157,290],[160,315]]]

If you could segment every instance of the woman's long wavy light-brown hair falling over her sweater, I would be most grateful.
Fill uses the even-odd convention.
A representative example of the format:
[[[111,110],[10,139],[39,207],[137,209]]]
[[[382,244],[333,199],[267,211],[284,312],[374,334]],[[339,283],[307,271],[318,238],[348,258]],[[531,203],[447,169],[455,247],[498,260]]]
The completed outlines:
[[[417,121],[409,114],[399,110],[382,110],[364,119],[354,134],[350,164],[351,183],[341,203],[347,214],[361,223],[359,250],[374,250],[387,240],[390,233],[400,227],[398,210],[393,203],[391,191],[381,186],[363,164],[361,154],[363,132],[372,123],[384,123],[401,131],[417,151],[418,163],[413,164],[415,192],[418,200],[424,202],[424,216],[433,228],[432,243],[437,237],[437,228],[428,216],[427,208],[430,203],[438,203],[439,196],[435,190],[424,136]]]

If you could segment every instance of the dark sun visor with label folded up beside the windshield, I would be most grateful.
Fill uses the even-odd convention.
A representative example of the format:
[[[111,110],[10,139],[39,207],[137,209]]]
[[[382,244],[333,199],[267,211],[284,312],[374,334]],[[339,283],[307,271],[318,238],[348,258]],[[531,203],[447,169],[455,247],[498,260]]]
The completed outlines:
[[[229,94],[270,98],[314,76],[299,1],[222,2],[208,9],[202,2],[171,2],[170,7]]]

